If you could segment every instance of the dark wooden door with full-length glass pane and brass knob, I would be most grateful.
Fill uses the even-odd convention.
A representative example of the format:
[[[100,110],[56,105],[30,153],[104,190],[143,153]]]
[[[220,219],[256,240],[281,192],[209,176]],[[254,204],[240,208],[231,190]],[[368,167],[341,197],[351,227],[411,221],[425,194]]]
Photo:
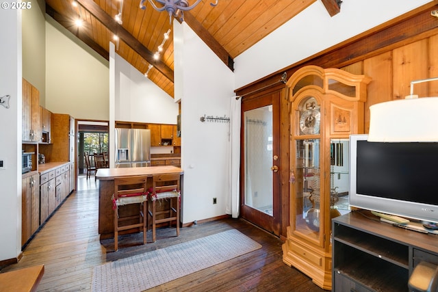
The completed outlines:
[[[242,217],[279,235],[279,92],[242,101]]]

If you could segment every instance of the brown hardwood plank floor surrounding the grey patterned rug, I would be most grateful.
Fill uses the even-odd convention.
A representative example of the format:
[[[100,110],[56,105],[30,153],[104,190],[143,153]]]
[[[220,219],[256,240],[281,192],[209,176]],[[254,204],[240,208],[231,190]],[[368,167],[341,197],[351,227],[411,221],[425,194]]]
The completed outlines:
[[[114,241],[99,241],[97,215],[99,181],[79,178],[73,192],[23,251],[17,264],[1,272],[44,264],[38,291],[90,291],[92,269],[108,261],[157,250],[235,228],[262,245],[262,248],[230,261],[167,282],[148,291],[324,291],[309,277],[282,261],[278,238],[240,219],[225,219],[181,228],[157,230],[157,241],[142,245],[142,235],[120,236],[118,252]]]

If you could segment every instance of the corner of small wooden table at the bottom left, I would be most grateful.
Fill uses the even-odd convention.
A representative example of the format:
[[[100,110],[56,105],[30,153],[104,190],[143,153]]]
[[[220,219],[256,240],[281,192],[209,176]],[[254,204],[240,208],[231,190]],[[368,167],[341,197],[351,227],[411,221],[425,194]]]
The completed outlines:
[[[10,291],[36,291],[44,274],[44,265],[25,267],[15,271],[0,274],[0,292]]]

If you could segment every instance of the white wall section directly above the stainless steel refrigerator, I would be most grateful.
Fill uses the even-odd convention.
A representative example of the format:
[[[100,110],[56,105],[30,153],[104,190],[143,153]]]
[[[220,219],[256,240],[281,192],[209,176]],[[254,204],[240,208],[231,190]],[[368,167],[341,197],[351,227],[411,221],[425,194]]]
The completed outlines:
[[[115,55],[116,120],[177,124],[178,104],[149,78]]]

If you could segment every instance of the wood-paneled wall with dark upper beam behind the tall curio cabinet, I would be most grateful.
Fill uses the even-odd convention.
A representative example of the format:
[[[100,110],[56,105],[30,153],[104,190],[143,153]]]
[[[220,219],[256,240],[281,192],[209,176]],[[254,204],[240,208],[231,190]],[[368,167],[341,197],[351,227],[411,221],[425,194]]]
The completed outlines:
[[[297,64],[274,72],[259,81],[236,90],[244,98],[257,98],[272,93],[270,84],[281,79],[283,72],[290,77],[302,66],[316,65],[322,68],[341,68],[353,74],[372,78],[368,85],[365,102],[365,133],[370,128],[370,106],[376,103],[404,98],[410,94],[411,81],[438,77],[438,19],[430,16],[438,9],[438,1],[423,5],[417,10],[371,29],[342,44],[327,49]],[[342,12],[341,12],[342,13]],[[288,96],[286,87],[282,96]],[[257,89],[260,89],[257,91]],[[414,85],[413,94],[420,97],[438,96],[438,81]],[[289,225],[289,103],[281,101],[281,237],[286,237]]]

